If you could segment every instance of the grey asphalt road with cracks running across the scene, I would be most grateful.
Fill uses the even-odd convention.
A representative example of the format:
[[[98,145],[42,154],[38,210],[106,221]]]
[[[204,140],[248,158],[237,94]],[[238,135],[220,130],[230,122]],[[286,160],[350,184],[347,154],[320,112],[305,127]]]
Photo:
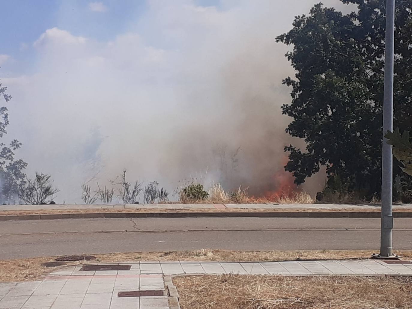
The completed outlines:
[[[412,218],[395,219],[394,227],[394,248],[412,249]],[[3,221],[0,222],[0,259],[201,248],[377,250],[379,228],[379,218],[113,218]]]

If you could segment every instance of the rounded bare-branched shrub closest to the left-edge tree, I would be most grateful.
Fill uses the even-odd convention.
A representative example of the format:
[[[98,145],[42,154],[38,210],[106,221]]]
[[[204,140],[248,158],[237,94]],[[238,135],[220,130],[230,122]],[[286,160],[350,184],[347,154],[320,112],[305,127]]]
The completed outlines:
[[[37,173],[35,179],[26,179],[26,184],[19,192],[19,197],[26,204],[40,205],[52,201],[59,189],[50,184],[50,175]]]

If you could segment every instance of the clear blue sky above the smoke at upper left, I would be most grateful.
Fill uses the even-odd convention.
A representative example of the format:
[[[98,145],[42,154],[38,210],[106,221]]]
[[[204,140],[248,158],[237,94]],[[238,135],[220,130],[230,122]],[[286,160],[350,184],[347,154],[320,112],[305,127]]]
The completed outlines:
[[[93,3],[102,10],[93,10]],[[197,5],[219,7],[219,0],[196,0]],[[9,61],[2,74],[30,73],[36,61],[33,42],[45,30],[57,27],[75,36],[108,41],[136,23],[147,10],[145,0],[1,0],[0,54]],[[95,6],[96,7],[96,6]],[[136,29],[138,30],[138,29]]]

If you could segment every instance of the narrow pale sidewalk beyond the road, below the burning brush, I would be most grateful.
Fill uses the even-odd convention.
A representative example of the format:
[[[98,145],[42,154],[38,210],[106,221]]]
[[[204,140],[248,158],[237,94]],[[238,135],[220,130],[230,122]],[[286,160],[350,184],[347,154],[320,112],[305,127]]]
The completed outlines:
[[[202,210],[202,209],[311,209],[311,210],[336,210],[336,209],[354,209],[354,210],[365,210],[365,209],[378,209],[380,210],[380,205],[351,205],[351,204],[126,204],[126,205],[101,205],[101,204],[65,204],[65,205],[2,205],[0,206],[1,211],[36,211],[36,210],[68,210],[68,209],[125,209],[125,210],[136,210],[136,209],[192,209],[192,210]],[[412,204],[394,205],[394,210],[397,209],[411,209]]]

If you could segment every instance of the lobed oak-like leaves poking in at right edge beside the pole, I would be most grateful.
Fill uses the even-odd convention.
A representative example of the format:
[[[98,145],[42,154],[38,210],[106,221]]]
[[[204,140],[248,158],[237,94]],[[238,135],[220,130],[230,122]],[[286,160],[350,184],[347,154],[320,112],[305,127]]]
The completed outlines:
[[[403,167],[400,167],[402,171],[412,176],[412,144],[409,131],[405,130],[401,135],[399,128],[396,128],[393,132],[388,131],[385,134],[385,138],[388,139],[386,143],[392,145],[393,156],[403,164]]]

